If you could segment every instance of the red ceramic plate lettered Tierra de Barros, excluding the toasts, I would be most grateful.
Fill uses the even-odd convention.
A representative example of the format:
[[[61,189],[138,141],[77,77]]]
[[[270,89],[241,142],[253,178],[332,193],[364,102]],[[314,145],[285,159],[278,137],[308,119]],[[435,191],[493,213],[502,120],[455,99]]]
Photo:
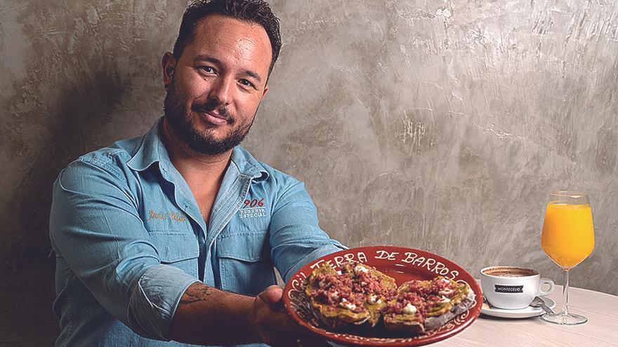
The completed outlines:
[[[395,278],[397,285],[408,280],[430,280],[437,275],[452,278],[459,283],[468,283],[475,293],[475,303],[466,312],[461,313],[446,325],[419,336],[389,336],[386,329],[367,329],[367,334],[354,335],[330,332],[317,322],[308,306],[304,293],[304,281],[317,266],[329,262],[336,270],[348,260],[360,261],[374,266],[378,270]],[[319,334],[324,339],[343,346],[421,346],[447,339],[469,327],[480,314],[482,294],[480,287],[468,271],[449,259],[414,248],[372,246],[343,250],[310,262],[292,276],[285,286],[283,301],[286,310],[298,324]]]

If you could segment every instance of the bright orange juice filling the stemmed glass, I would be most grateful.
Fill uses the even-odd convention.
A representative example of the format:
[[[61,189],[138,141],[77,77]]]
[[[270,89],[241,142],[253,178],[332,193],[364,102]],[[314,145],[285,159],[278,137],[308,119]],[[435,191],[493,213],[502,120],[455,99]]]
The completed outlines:
[[[586,259],[594,248],[590,205],[548,203],[541,247],[565,270]]]

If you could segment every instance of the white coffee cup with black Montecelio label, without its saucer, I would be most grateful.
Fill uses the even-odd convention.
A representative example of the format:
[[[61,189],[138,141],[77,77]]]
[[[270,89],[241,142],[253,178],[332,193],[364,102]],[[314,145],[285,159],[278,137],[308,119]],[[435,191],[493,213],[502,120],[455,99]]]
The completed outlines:
[[[549,285],[548,290],[541,290],[544,284]],[[489,304],[516,310],[529,306],[534,297],[551,294],[554,284],[530,268],[489,266],[480,271],[480,286]]]

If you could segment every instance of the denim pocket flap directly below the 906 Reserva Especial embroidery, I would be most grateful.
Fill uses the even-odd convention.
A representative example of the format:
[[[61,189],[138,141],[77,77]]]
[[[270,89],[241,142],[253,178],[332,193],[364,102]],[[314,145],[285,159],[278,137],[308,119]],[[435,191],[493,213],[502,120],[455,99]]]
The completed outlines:
[[[241,261],[260,261],[270,259],[270,243],[266,231],[228,234],[217,240],[220,258]]]

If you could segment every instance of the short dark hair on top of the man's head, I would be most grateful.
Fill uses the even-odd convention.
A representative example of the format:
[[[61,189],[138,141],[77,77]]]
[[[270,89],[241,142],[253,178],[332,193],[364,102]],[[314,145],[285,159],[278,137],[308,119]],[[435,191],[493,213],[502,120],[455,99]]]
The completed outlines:
[[[185,46],[187,46],[195,32],[195,27],[202,18],[213,13],[227,15],[228,17],[242,20],[244,22],[254,22],[261,25],[272,47],[272,59],[268,74],[275,66],[279,50],[281,49],[281,34],[279,32],[279,18],[275,17],[270,9],[270,5],[263,0],[198,0],[193,1],[183,15],[183,22],[180,23],[180,30],[176,43],[174,43],[173,55],[176,60],[180,59]]]

